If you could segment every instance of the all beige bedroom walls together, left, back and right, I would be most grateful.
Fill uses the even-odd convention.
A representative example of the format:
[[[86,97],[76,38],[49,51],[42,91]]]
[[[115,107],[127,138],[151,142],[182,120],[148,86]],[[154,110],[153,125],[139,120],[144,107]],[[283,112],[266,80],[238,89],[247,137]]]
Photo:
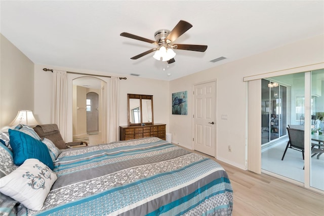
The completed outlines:
[[[119,125],[127,125],[127,94],[153,96],[154,122],[166,123],[172,141],[192,149],[192,89],[195,84],[217,80],[216,141],[217,158],[245,169],[247,167],[247,83],[244,77],[270,73],[289,68],[316,64],[324,60],[324,35],[295,42],[255,56],[229,62],[171,82],[127,76],[120,81]],[[39,123],[51,122],[52,73],[44,67],[102,74],[100,71],[62,68],[52,65],[34,65],[26,56],[1,36],[1,92],[0,126],[8,125],[20,109],[31,109]],[[32,72],[33,71],[33,72]],[[291,71],[291,70],[290,70]],[[299,71],[301,72],[301,71]],[[113,73],[110,74],[114,75]],[[273,74],[269,75],[272,77]],[[19,80],[17,78],[19,77]],[[69,114],[68,136],[72,140],[72,80],[80,77],[68,75]],[[102,78],[109,83],[109,78]],[[188,115],[171,114],[171,93],[188,91]],[[23,92],[23,93],[22,93]],[[221,120],[227,115],[227,120]],[[260,116],[255,116],[260,118]],[[261,121],[261,119],[260,119]],[[231,145],[232,151],[227,147]]]

